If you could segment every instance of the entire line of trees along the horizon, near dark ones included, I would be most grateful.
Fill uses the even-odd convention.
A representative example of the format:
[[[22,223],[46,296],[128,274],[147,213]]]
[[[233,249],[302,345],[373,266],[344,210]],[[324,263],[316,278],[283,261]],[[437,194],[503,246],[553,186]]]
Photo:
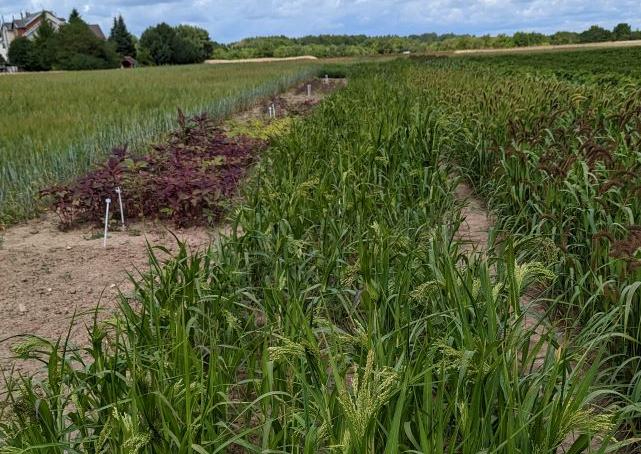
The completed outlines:
[[[109,39],[98,38],[75,9],[58,31],[44,21],[35,39],[15,39],[9,48],[9,64],[27,71],[50,69],[107,69],[132,57],[142,65],[202,63],[208,58],[353,57],[397,54],[409,51],[453,51],[539,45],[580,44],[641,39],[641,31],[621,23],[612,30],[593,25],[583,32],[559,31],[551,35],[516,32],[496,36],[424,33],[409,36],[317,35],[302,38],[268,36],[247,38],[232,44],[213,42],[207,30],[191,25],[161,23],[147,28],[140,39],[127,30],[124,19],[114,19]],[[1,57],[0,57],[1,58]],[[0,60],[0,65],[4,64]]]

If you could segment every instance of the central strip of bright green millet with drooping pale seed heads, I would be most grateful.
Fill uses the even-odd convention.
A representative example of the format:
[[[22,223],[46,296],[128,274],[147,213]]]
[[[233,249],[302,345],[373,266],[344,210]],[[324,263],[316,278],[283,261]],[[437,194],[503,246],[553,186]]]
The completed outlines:
[[[533,367],[550,339],[531,346],[520,297],[550,271],[509,242],[464,261],[453,137],[411,69],[355,72],[275,140],[230,234],[152,257],[118,318],[90,330],[90,358],[22,345],[54,372],[13,388],[0,443],[507,454],[613,433],[617,408],[593,411],[607,334]]]

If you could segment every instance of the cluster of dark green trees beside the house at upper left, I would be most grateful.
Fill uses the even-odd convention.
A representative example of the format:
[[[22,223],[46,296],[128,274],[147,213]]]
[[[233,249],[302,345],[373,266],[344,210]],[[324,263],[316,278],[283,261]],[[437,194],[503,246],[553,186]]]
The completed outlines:
[[[104,41],[74,9],[59,30],[43,14],[34,39],[19,37],[11,42],[8,63],[25,71],[117,68],[123,57],[135,58],[143,65],[202,63],[214,46],[202,28],[165,23],[149,27],[137,40],[122,16],[114,18],[109,39]],[[0,60],[0,65],[5,63]]]

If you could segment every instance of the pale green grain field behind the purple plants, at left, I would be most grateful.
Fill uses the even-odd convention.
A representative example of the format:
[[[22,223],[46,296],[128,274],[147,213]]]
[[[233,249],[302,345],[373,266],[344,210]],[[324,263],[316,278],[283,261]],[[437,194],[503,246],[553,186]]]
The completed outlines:
[[[185,66],[0,78],[0,223],[38,213],[36,195],[175,125],[176,108],[214,117],[313,72],[308,63]]]

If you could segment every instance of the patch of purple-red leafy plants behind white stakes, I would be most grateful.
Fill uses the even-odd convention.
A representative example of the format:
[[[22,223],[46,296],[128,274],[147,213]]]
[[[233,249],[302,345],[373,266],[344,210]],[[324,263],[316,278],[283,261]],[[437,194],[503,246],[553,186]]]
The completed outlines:
[[[101,166],[68,185],[41,191],[49,196],[61,227],[99,222],[105,199],[118,210],[120,187],[128,218],[161,218],[176,225],[215,221],[223,201],[236,193],[238,183],[264,141],[229,138],[203,114],[186,119],[178,112],[179,129],[169,139],[151,147],[147,155],[134,156],[127,147],[116,148]]]

